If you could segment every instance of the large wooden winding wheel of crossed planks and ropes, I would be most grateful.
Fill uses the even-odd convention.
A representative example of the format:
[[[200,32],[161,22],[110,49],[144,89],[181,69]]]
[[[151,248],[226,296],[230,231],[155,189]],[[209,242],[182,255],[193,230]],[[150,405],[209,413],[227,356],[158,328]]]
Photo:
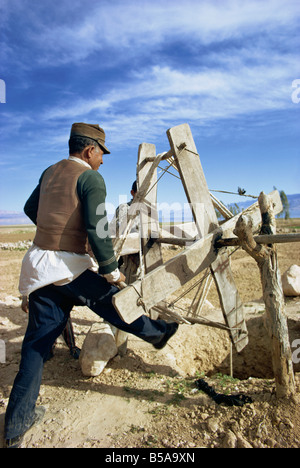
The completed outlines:
[[[248,344],[244,306],[240,299],[230,267],[230,253],[220,246],[220,239],[234,237],[233,231],[240,214],[233,216],[228,209],[210,192],[204,176],[200,157],[188,124],[173,127],[167,131],[170,150],[156,155],[155,145],[142,143],[139,146],[137,163],[138,192],[129,208],[128,217],[119,237],[114,239],[117,257],[123,255],[126,246],[140,252],[141,274],[137,281],[124,285],[113,298],[119,315],[131,323],[142,314],[151,314],[178,321],[179,323],[200,323],[228,330],[231,341],[238,352]],[[191,207],[195,236],[178,232],[166,236],[159,225],[157,212],[157,169],[161,161],[178,171],[187,201]],[[277,191],[269,194],[274,213],[282,211]],[[219,223],[215,208],[224,221]],[[243,212],[252,219],[253,232],[261,224],[258,203]],[[141,232],[130,234],[133,220],[140,216]],[[184,245],[185,249],[164,263],[162,243]],[[196,278],[199,278],[196,280]],[[201,318],[201,305],[209,280],[215,281],[224,323],[213,323]],[[182,288],[194,282],[196,289],[192,306],[186,313],[176,309],[176,300],[171,295],[181,296]],[[196,285],[196,286],[195,286]],[[188,288],[188,290],[190,290]]]

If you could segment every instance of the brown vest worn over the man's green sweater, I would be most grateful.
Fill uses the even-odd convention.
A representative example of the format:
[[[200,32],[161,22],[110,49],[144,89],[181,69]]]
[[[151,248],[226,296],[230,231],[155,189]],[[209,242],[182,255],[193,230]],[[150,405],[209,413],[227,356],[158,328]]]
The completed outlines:
[[[77,195],[77,181],[88,170],[76,161],[64,159],[44,173],[33,241],[41,249],[87,253],[87,232]]]

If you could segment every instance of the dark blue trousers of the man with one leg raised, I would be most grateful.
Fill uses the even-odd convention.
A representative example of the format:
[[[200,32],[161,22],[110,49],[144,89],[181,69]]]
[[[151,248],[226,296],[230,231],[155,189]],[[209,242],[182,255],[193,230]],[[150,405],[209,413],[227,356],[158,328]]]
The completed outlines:
[[[112,305],[118,289],[104,278],[86,270],[65,286],[45,286],[29,296],[29,321],[24,337],[20,369],[11,391],[6,415],[5,438],[26,432],[35,416],[44,362],[55,340],[66,327],[74,305],[88,306],[105,321],[152,344],[166,332],[166,322],[142,316],[130,325]]]

